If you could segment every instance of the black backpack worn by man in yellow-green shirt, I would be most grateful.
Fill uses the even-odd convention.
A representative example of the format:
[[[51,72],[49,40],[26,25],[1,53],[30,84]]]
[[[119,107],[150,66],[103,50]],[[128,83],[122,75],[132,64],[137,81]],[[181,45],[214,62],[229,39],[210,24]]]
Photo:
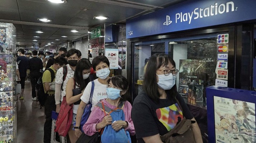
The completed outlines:
[[[55,73],[52,69],[48,68],[46,70],[49,70],[50,73],[51,73],[51,82],[53,82],[54,78],[55,78]],[[45,71],[46,71],[45,70]],[[43,74],[42,76],[38,79],[37,81],[37,85],[36,85],[36,88],[38,90],[38,93],[37,93],[37,99],[40,103],[40,109],[42,109],[42,107],[44,107],[44,103],[46,101],[46,98],[47,98],[47,92],[44,93],[44,86],[43,86],[43,80],[42,80],[42,77],[43,77]]]

